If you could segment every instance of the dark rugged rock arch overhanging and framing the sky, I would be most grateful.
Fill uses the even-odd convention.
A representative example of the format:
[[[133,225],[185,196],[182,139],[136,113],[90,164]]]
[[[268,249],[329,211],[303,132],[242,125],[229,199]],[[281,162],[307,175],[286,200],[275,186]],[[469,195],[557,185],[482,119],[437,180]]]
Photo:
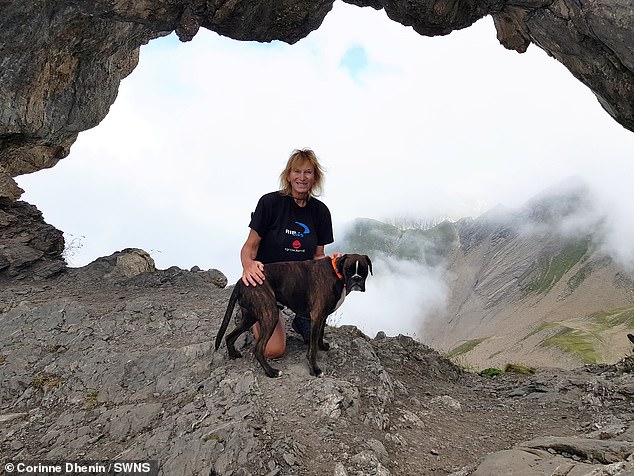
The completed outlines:
[[[591,88],[634,130],[634,11],[628,0],[350,0],[383,8],[421,35],[449,34],[486,15],[502,45],[533,43]],[[52,167],[114,102],[139,48],[200,27],[239,40],[294,43],[318,28],[332,0],[42,0],[0,2],[0,197],[13,177]]]

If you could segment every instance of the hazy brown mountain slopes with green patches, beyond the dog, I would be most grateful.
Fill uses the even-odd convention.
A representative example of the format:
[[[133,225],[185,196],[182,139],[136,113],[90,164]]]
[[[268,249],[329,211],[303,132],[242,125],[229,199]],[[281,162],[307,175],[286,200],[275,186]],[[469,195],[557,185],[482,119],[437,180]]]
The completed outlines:
[[[603,251],[603,217],[573,180],[518,210],[403,230],[358,220],[346,249],[442,267],[444,312],[419,339],[476,369],[574,368],[628,354],[634,275]]]

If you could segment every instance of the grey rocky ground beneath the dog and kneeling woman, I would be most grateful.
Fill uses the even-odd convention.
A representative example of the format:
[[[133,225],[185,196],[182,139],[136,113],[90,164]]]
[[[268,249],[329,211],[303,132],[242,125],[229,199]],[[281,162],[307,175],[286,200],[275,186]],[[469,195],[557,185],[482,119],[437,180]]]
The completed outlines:
[[[409,337],[289,331],[269,379],[213,350],[220,273],[105,260],[0,287],[0,455],[162,475],[632,475],[634,358],[482,377]],[[133,275],[133,276],[130,276]],[[345,305],[345,304],[344,304]],[[289,326],[290,329],[290,326]]]

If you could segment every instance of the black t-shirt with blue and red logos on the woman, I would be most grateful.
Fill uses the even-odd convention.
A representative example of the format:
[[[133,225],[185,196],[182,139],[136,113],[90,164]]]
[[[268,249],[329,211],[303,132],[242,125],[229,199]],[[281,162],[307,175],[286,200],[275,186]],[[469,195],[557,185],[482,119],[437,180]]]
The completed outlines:
[[[313,259],[317,246],[334,241],[330,210],[314,197],[300,207],[290,195],[267,193],[251,214],[249,228],[262,239],[255,257],[262,263]]]

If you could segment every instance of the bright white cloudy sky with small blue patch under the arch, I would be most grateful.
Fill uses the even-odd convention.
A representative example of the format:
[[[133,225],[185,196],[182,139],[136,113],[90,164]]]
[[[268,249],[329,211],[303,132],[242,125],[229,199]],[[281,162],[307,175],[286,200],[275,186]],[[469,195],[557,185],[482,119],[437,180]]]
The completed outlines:
[[[159,268],[218,268],[233,281],[250,212],[301,147],[326,168],[335,237],[356,217],[517,207],[577,175],[634,260],[634,135],[537,47],[505,50],[489,18],[427,38],[336,2],[295,45],[205,30],[155,40],[102,123],[18,183],[75,240],[75,266],[139,247]]]

